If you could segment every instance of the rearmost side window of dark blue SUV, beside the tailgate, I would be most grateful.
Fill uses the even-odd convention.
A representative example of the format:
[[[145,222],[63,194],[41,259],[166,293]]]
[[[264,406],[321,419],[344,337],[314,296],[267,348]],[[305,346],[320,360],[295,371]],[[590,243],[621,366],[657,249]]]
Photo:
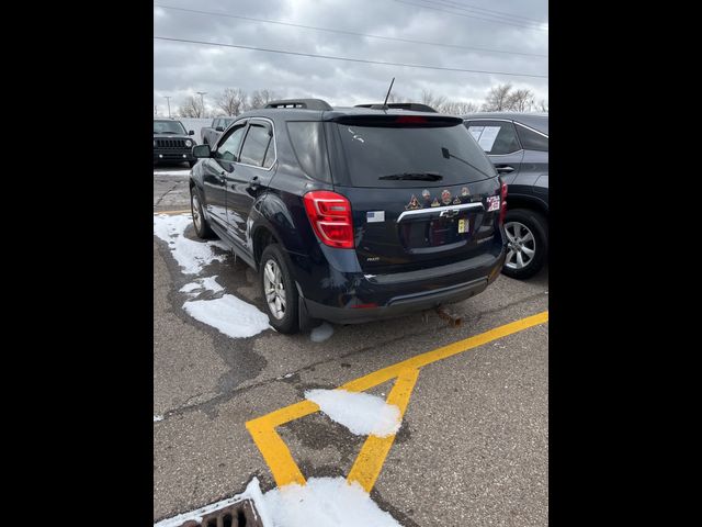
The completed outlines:
[[[331,182],[322,123],[290,121],[287,135],[301,168],[310,178]]]

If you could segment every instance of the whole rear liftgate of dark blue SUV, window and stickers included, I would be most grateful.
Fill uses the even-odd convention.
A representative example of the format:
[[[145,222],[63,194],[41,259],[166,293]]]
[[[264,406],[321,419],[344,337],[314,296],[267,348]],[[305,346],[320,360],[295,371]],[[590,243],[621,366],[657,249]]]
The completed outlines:
[[[351,203],[365,272],[417,270],[496,250],[499,180],[461,119],[343,115],[328,134],[335,191]]]

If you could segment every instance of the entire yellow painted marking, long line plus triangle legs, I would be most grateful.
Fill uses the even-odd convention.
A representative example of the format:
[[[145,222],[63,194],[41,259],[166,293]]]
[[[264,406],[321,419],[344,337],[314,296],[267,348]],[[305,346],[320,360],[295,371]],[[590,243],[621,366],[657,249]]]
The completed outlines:
[[[388,394],[387,402],[399,406],[400,415],[404,416],[420,368],[546,322],[548,322],[548,312],[544,311],[536,315],[505,324],[479,335],[464,338],[457,343],[442,346],[441,348],[388,366],[347,382],[339,386],[339,389],[350,392],[362,392],[397,378],[393,390]],[[301,401],[247,422],[246,427],[271,469],[278,486],[283,486],[288,483],[304,485],[305,476],[297,467],[297,463],[295,463],[290,449],[275,431],[275,428],[291,421],[314,414],[317,411],[319,411],[319,406],[316,403],[312,401]],[[385,438],[369,436],[356,461],[351,468],[348,480],[358,481],[366,492],[371,492],[394,441],[394,435]]]

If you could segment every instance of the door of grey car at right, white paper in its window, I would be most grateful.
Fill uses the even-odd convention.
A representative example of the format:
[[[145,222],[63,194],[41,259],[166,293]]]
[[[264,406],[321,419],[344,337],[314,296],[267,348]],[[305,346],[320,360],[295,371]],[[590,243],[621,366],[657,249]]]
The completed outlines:
[[[514,123],[507,120],[476,119],[465,123],[471,135],[488,155],[508,186],[514,182],[524,158]]]

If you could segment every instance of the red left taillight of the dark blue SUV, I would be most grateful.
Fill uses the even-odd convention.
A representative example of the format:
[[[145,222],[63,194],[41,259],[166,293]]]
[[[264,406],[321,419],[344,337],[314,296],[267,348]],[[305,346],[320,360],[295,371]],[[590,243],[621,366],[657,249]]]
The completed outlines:
[[[341,194],[315,190],[304,195],[305,211],[319,240],[329,247],[353,248],[351,203]]]

